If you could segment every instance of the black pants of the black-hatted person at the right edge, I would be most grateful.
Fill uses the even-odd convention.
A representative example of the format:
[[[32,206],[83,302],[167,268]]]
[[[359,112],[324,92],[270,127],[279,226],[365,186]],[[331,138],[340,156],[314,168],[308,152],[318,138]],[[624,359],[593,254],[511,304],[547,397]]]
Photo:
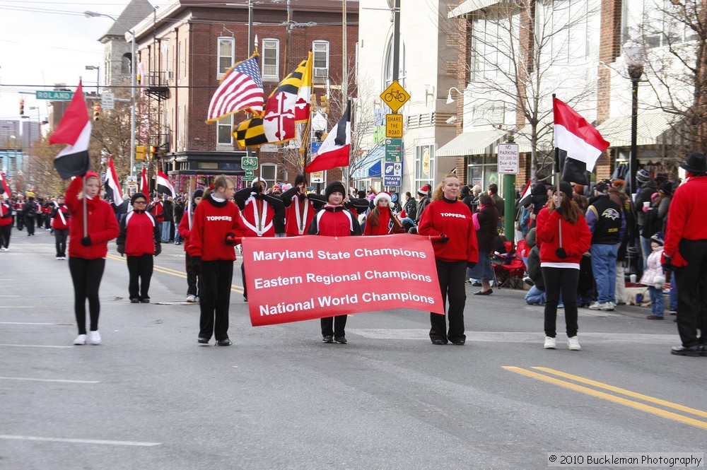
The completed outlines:
[[[677,332],[689,348],[707,344],[707,240],[680,240],[679,250],[689,264],[675,270]]]

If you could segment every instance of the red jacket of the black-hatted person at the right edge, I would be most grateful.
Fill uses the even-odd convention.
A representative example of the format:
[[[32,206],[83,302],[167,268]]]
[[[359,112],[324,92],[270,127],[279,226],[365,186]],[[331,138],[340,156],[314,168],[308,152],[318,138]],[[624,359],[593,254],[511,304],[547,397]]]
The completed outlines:
[[[704,218],[707,177],[690,177],[675,189],[667,211],[663,254],[672,257],[675,266],[686,266],[687,261],[678,250],[680,240],[707,240],[707,219]]]

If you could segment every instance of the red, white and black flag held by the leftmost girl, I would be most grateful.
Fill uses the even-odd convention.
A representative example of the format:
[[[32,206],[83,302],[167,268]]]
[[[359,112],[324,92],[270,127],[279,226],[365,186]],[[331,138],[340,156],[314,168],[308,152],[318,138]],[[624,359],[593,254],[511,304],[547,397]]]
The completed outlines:
[[[69,106],[66,107],[57,130],[49,137],[49,143],[69,144],[54,158],[54,168],[64,180],[72,176],[85,175],[90,169],[90,160],[88,160],[90,131],[86,100],[83,99],[83,88],[79,81],[74,98],[71,98]]]

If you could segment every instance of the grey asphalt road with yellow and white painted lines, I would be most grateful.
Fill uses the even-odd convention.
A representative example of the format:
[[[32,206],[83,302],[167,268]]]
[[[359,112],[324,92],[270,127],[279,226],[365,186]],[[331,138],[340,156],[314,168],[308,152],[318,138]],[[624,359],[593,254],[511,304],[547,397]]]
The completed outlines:
[[[15,231],[0,252],[0,469],[544,469],[550,452],[706,451],[707,358],[671,356],[675,324],[646,308],[581,309],[583,350],[559,334],[546,351],[542,307],[467,286],[465,346],[433,346],[429,314],[403,309],[352,315],[349,344],[322,344],[318,321],[251,327],[239,261],[234,345],[197,346],[182,247],[156,258],[148,305],[129,303],[112,253],[103,344],[72,346],[53,237]]]

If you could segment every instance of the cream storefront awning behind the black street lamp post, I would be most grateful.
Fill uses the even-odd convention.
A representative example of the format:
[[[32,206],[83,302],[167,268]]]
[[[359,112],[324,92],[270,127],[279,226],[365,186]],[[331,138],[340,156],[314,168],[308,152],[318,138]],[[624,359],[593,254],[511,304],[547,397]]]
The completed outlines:
[[[638,114],[636,143],[639,146],[670,143],[670,125],[675,117],[667,112]],[[631,116],[609,117],[597,126],[597,131],[612,147],[631,146]]]

